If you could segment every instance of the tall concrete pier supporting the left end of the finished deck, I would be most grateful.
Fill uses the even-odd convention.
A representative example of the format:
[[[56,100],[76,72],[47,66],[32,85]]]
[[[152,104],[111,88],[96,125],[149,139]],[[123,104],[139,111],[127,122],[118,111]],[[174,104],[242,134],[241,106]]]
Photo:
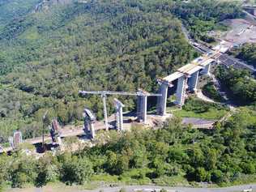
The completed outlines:
[[[156,112],[157,112],[157,114],[162,115],[162,116],[166,114],[167,93],[168,93],[168,84],[161,83],[160,94],[162,94],[162,96],[157,97]]]

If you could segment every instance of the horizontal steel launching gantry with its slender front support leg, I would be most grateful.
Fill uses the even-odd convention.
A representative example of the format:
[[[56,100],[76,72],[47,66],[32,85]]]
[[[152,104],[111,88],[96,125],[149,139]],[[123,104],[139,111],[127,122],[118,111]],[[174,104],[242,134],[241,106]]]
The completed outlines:
[[[139,89],[138,92],[79,91],[79,94],[82,94],[82,95],[94,94],[94,95],[100,95],[102,97],[106,130],[109,130],[107,105],[106,105],[107,95],[120,95],[120,96],[162,96],[162,94],[149,93],[149,92],[145,92],[145,91],[143,91],[141,89]]]

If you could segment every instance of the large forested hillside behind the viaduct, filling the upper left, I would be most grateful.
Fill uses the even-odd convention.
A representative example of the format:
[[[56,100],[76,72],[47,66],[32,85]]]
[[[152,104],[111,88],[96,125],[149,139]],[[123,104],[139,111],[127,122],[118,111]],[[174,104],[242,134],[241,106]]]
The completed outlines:
[[[36,0],[0,2],[6,11],[0,15],[1,142],[17,128],[24,138],[40,134],[45,110],[62,125],[82,120],[84,106],[101,118],[100,97],[81,98],[80,89],[156,92],[158,76],[198,55],[177,17],[216,23],[241,16],[233,2],[210,0],[74,0],[36,11]],[[134,109],[134,97],[120,99]],[[112,113],[111,97],[108,102]]]

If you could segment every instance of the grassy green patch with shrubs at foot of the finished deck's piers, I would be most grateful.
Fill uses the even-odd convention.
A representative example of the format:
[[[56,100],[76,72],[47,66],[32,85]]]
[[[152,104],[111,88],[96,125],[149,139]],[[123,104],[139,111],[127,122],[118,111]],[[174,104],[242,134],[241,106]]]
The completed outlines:
[[[209,120],[217,120],[228,113],[228,108],[220,104],[209,103],[190,97],[186,100],[181,110],[168,108],[169,112],[173,111],[176,117],[197,117]]]

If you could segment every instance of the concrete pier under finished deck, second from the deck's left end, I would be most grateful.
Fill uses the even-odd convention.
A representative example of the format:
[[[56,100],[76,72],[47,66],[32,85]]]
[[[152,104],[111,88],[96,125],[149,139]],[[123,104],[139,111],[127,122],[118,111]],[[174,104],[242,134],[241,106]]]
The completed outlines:
[[[187,78],[181,76],[177,81],[176,105],[184,105],[186,96]]]

